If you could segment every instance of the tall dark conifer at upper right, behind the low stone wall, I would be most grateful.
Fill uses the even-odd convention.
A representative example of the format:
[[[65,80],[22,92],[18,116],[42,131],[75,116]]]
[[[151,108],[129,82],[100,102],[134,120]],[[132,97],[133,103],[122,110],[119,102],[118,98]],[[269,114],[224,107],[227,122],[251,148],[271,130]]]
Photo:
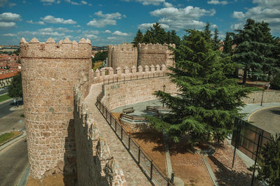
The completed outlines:
[[[246,20],[244,29],[237,30],[234,42],[237,44],[233,60],[244,70],[243,84],[246,83],[247,73],[255,77],[265,78],[274,64],[272,45],[268,24],[254,20]]]

